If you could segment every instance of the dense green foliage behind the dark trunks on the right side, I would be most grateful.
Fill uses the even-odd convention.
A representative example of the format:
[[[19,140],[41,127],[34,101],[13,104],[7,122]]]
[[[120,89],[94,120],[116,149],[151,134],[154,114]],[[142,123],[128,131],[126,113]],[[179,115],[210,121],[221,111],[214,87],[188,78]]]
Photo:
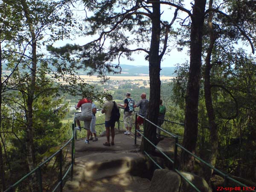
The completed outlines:
[[[219,39],[221,44],[227,43]],[[255,58],[244,50],[236,50],[233,44],[226,44],[226,52],[214,49],[211,69],[211,91],[213,107],[218,125],[218,157],[216,167],[232,175],[254,180],[254,171],[250,169],[255,163],[256,136],[255,103],[256,98],[256,64]],[[232,51],[231,51],[232,50]],[[203,68],[204,69],[204,68]],[[202,71],[204,72],[204,70]],[[180,106],[167,109],[170,119],[182,119],[184,115],[186,78],[188,68],[181,65],[177,68],[177,77],[173,82],[172,98]],[[201,86],[198,105],[198,154],[207,159],[210,148],[210,130],[204,101],[204,90]],[[178,114],[182,114],[179,118]],[[177,132],[177,131],[176,131]]]

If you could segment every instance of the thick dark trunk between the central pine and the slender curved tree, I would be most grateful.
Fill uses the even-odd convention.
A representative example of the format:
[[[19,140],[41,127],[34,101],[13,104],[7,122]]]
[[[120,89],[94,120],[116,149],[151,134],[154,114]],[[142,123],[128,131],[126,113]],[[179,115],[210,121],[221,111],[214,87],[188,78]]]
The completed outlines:
[[[198,96],[202,65],[202,30],[206,0],[195,0],[190,33],[190,66],[186,91],[185,128],[183,147],[195,153],[198,135]],[[192,171],[194,158],[186,151],[181,152],[181,167]]]

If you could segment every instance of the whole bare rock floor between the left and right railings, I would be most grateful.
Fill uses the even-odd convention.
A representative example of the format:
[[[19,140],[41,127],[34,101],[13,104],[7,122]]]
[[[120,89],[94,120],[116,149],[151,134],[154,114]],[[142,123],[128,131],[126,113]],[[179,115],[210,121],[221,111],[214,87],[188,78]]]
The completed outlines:
[[[134,135],[116,131],[115,145],[105,146],[106,137],[85,144],[75,141],[73,180],[65,183],[64,192],[148,192],[150,181],[138,177],[147,169],[146,158],[139,151],[141,138],[134,145]]]

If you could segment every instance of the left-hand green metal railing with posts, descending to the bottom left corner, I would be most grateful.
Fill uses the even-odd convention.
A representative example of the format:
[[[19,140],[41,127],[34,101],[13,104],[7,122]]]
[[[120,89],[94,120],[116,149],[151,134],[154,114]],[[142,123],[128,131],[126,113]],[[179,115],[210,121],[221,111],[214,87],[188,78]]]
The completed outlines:
[[[54,154],[52,154],[52,156],[48,157],[47,160],[45,160],[43,163],[40,163],[35,169],[33,169],[31,172],[29,172],[27,175],[25,175],[24,177],[22,177],[20,180],[18,180],[15,184],[11,185],[8,189],[6,189],[4,192],[16,192],[15,188],[22,183],[25,179],[27,179],[29,176],[33,176],[34,174],[36,174],[37,176],[37,186],[38,189],[33,190],[33,191],[39,191],[39,192],[43,192],[43,182],[42,182],[42,167],[44,165],[46,165],[46,163],[48,163],[50,160],[52,160],[53,157],[59,157],[59,175],[58,175],[58,183],[57,185],[54,187],[54,189],[52,190],[52,192],[55,192],[58,188],[59,191],[62,192],[62,188],[63,188],[63,181],[64,179],[67,177],[67,174],[71,171],[71,180],[73,180],[73,166],[75,163],[75,136],[74,136],[74,120],[73,120],[73,124],[72,124],[72,137],[70,138],[70,140],[67,141],[67,143],[65,143],[58,151],[56,151]],[[63,149],[68,145],[72,143],[72,147],[71,147],[71,164],[68,167],[67,171],[64,173],[62,172],[63,169]]]

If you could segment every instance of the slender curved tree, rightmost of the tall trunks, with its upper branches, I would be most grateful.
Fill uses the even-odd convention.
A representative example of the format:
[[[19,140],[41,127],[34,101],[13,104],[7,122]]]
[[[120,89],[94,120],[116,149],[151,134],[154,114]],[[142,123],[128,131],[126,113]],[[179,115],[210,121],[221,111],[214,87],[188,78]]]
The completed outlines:
[[[233,2],[232,3],[232,9],[234,12],[236,12],[236,5],[239,4],[238,2]],[[227,3],[228,5],[228,3]],[[228,5],[229,6],[229,5]],[[205,58],[205,70],[204,70],[204,96],[205,96],[205,105],[207,108],[207,116],[208,116],[208,121],[209,121],[209,130],[210,130],[210,141],[211,141],[211,153],[209,154],[208,160],[207,162],[211,163],[212,166],[215,166],[216,163],[216,158],[217,158],[217,154],[218,154],[218,126],[216,123],[216,119],[215,119],[215,110],[212,104],[212,93],[211,93],[211,88],[215,87],[216,84],[214,85],[214,83],[210,82],[210,71],[213,65],[218,65],[220,62],[222,62],[221,60],[218,61],[211,61],[211,55],[212,52],[214,53],[214,49],[215,46],[218,47],[218,45],[215,44],[216,38],[221,38],[221,31],[220,28],[225,31],[225,29],[227,31],[229,31],[230,29],[233,28],[233,26],[229,27],[230,24],[225,24],[223,25],[223,23],[232,23],[233,25],[235,25],[235,28],[238,30],[238,32],[240,32],[242,34],[242,37],[247,39],[251,45],[252,48],[252,52],[254,52],[253,49],[253,44],[250,40],[249,37],[252,37],[252,33],[246,33],[247,29],[244,28],[243,25],[241,25],[242,22],[239,22],[239,20],[248,20],[246,17],[240,17],[239,20],[234,19],[226,14],[224,14],[223,12],[216,10],[216,14],[221,14],[224,17],[223,23],[221,23],[219,25],[219,29],[216,29],[213,27],[213,24],[215,26],[217,26],[217,21],[215,21],[215,23],[212,23],[212,19],[213,17],[213,13],[212,13],[212,1],[209,1],[209,16],[208,16],[208,34],[209,34],[209,47],[207,49],[207,55]],[[232,15],[232,14],[230,14]],[[234,17],[234,15],[232,15]],[[251,26],[249,27],[251,28]],[[233,29],[232,29],[233,30]],[[238,34],[236,34],[238,35]],[[227,38],[230,38],[230,41],[236,41],[240,38],[234,38],[234,36],[236,36],[235,34],[233,34],[232,36],[227,35]],[[227,41],[227,40],[224,40]],[[225,48],[224,48],[225,47]],[[222,46],[222,48],[226,49],[226,45]],[[232,97],[233,97],[233,93],[230,92],[225,86],[223,85],[218,85],[219,87],[222,87],[222,89],[224,89],[227,93],[229,93]],[[237,111],[238,109],[236,109]],[[233,118],[235,118],[236,116],[238,116],[238,112],[236,113],[235,116],[233,116]],[[206,176],[206,180],[209,181],[210,177],[212,175],[212,171],[210,169],[206,169],[204,175]]]

